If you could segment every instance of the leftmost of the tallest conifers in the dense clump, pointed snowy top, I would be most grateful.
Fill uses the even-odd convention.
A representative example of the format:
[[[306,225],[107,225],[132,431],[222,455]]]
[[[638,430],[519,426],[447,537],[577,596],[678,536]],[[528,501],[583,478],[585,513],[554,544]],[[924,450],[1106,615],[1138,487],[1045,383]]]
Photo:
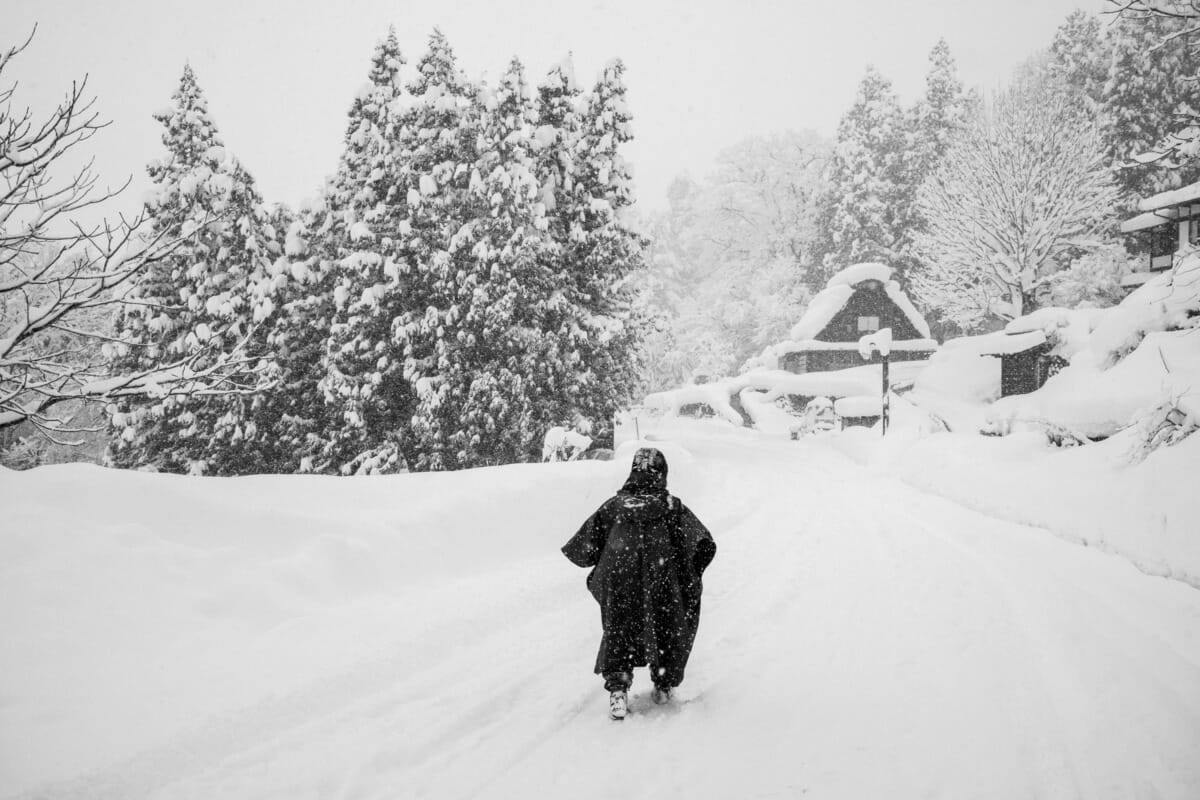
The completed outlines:
[[[403,467],[400,444],[413,392],[394,320],[415,307],[403,266],[412,234],[410,149],[416,140],[403,66],[390,29],[376,47],[368,80],[350,107],[337,172],[325,188],[324,234],[312,255],[320,266],[314,271],[316,296],[304,309],[330,320],[322,381],[330,408],[324,449],[312,462],[319,471]]]

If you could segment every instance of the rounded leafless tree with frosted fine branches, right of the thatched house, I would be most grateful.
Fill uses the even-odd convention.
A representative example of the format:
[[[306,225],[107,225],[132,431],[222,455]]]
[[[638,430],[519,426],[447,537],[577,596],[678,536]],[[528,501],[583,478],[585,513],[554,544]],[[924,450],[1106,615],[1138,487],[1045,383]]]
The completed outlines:
[[[1094,122],[1048,86],[1018,85],[956,136],[918,193],[928,229],[913,287],[967,327],[1020,317],[1115,200]]]

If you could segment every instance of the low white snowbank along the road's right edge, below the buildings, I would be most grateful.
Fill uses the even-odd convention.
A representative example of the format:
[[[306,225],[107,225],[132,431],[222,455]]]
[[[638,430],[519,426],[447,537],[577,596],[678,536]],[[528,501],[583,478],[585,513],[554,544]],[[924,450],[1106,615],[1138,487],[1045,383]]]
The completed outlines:
[[[899,416],[899,415],[896,415]],[[1118,554],[1151,575],[1200,588],[1200,437],[1129,463],[1127,433],[1058,449],[1039,434],[920,435],[894,420],[888,437],[846,431],[824,440],[881,473],[976,511],[1036,525]]]

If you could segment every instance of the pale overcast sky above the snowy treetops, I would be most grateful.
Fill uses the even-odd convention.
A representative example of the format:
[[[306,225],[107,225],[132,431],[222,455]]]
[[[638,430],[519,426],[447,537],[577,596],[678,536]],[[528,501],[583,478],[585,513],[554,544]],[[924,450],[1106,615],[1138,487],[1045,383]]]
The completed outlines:
[[[374,44],[395,24],[409,64],[434,25],[470,77],[494,78],[512,55],[533,83],[571,50],[581,84],[624,59],[636,140],[628,156],[643,210],[671,179],[700,178],[750,136],[812,128],[832,136],[868,64],[901,100],[923,89],[929,50],[950,46],[968,86],[1001,85],[1049,44],[1075,7],[1103,0],[0,0],[8,47],[38,24],[6,71],[18,101],[44,108],[90,73],[113,125],[92,140],[104,181],[149,186],[162,154],[151,114],[192,64],[227,145],[264,197],[295,204],[337,163],[346,112]],[[11,74],[8,74],[11,72]]]

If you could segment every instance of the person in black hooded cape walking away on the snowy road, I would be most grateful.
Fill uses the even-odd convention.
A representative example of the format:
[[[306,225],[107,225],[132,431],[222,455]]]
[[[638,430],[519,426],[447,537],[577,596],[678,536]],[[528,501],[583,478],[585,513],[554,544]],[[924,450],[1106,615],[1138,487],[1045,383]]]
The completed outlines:
[[[716,554],[713,535],[667,492],[667,459],[654,447],[634,455],[629,479],[563,547],[592,567],[604,634],[595,672],[613,720],[629,712],[635,667],[649,667],[652,699],[671,699],[683,681],[700,625],[701,577]]]

